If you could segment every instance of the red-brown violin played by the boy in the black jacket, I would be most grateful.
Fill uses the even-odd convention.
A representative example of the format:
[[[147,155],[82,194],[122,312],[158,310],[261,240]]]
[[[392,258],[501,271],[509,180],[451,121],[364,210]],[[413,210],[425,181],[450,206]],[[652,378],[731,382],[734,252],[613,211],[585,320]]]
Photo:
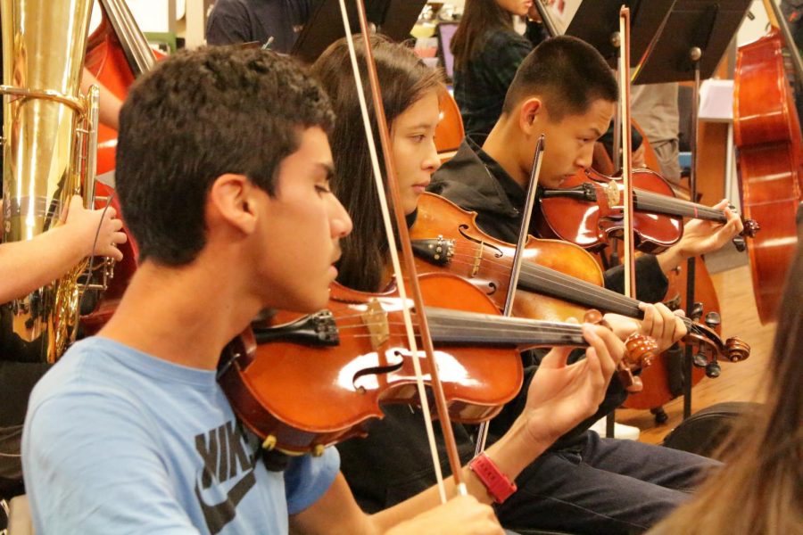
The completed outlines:
[[[600,251],[611,237],[623,235],[622,183],[594,169],[584,169],[565,183],[565,188],[542,190],[541,210],[534,214],[543,237],[559,238],[589,251]],[[715,210],[675,196],[666,180],[650,169],[633,171],[633,231],[639,251],[658,253],[683,236],[683,218],[725,223],[723,210]],[[753,237],[759,226],[742,219],[744,230],[734,239],[744,251],[742,236]]]

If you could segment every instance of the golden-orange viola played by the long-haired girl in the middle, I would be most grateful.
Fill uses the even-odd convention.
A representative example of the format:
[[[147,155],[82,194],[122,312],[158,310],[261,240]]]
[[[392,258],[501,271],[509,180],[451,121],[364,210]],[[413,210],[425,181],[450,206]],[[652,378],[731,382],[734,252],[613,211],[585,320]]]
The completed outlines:
[[[465,277],[499,309],[505,305],[514,245],[486,235],[476,226],[476,214],[433,193],[418,200],[410,228],[419,273],[448,272]],[[556,240],[530,237],[518,277],[513,314],[565,321],[583,317],[588,309],[642,319],[641,301],[602,287],[596,260],[582,248]],[[722,358],[738,362],[750,348],[737,337],[722,341],[710,327],[683,317],[688,333],[683,342],[699,346],[708,362]],[[703,357],[704,356],[704,357]]]

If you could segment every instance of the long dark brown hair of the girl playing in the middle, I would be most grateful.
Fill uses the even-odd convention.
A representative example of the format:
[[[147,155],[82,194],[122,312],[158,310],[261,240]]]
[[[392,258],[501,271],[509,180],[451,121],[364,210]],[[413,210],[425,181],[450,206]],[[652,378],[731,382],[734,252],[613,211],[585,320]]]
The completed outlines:
[[[382,176],[385,177],[377,119],[368,86],[365,45],[361,36],[355,39],[368,113],[379,151]],[[377,35],[370,39],[377,76],[382,85],[385,115],[393,130],[393,120],[403,111],[427,92],[443,90],[443,77],[438,70],[426,67],[407,46]],[[338,281],[355,290],[377,292],[385,268],[387,242],[346,41],[341,39],[330,45],[312,65],[311,71],[329,93],[335,109],[337,120],[331,136],[335,177],[330,184],[354,224],[352,234],[340,242],[343,256],[337,267]]]

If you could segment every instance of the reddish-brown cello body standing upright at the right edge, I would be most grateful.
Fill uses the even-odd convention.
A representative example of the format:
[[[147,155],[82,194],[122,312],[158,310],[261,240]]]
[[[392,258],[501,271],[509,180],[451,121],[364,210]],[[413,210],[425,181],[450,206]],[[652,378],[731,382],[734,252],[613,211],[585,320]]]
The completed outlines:
[[[761,224],[748,245],[762,323],[772,321],[797,246],[795,217],[803,191],[803,141],[777,31],[739,47],[733,134],[742,210]]]

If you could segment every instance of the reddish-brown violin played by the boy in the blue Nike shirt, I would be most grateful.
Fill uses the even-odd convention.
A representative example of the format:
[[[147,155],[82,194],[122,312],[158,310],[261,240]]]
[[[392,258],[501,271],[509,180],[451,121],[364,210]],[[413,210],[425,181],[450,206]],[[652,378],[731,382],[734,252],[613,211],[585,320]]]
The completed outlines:
[[[428,274],[418,283],[455,421],[492,418],[517,395],[521,350],[587,347],[581,325],[503,317],[459,276]],[[382,417],[381,404],[418,403],[401,317],[407,306],[396,290],[357,292],[333,283],[327,309],[313,315],[279,312],[230,343],[220,359],[219,383],[267,449],[315,454],[364,436],[368,422]],[[631,368],[648,366],[657,350],[653,339],[641,335],[625,347]],[[305,390],[289,384],[304,384]]]

